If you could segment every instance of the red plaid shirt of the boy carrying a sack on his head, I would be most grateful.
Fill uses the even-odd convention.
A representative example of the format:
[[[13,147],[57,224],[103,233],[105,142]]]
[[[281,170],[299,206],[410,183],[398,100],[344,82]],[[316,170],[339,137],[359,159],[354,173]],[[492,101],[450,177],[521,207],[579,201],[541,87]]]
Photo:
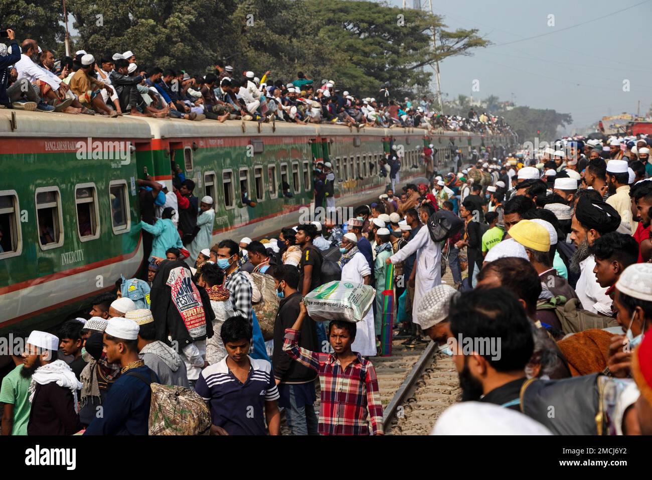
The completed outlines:
[[[299,330],[286,328],[285,332],[283,350],[319,374],[319,434],[368,435],[367,411],[374,434],[382,433],[383,408],[372,362],[358,353],[342,372],[340,360],[334,355],[299,347]]]

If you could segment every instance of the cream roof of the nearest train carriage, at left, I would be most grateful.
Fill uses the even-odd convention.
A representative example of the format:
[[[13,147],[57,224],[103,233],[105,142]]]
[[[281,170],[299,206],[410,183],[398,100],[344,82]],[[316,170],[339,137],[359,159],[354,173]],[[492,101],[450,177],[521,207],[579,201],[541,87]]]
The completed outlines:
[[[12,122],[14,112],[15,128]],[[147,123],[128,115],[122,118],[106,118],[101,115],[26,112],[0,108],[0,136],[151,138],[152,134]]]

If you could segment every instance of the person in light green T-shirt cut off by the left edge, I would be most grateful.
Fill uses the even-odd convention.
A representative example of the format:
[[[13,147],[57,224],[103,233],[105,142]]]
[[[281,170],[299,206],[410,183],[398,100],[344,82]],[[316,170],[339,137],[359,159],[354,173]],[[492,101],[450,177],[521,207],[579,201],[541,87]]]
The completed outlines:
[[[0,403],[3,404],[1,435],[27,435],[29,421],[29,383],[30,377],[23,376],[23,342],[26,332],[14,330],[3,340],[10,345],[10,354],[15,368],[2,379]],[[18,340],[18,343],[16,342]]]

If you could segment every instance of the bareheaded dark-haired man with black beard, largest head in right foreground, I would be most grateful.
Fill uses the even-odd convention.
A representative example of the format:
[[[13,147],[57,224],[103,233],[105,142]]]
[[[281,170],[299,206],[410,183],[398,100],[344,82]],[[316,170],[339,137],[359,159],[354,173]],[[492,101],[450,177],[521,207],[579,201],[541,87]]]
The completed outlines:
[[[534,350],[531,323],[507,289],[476,289],[453,298],[449,310],[453,361],[462,401],[520,411],[525,368]],[[494,340],[500,344],[492,344]]]

